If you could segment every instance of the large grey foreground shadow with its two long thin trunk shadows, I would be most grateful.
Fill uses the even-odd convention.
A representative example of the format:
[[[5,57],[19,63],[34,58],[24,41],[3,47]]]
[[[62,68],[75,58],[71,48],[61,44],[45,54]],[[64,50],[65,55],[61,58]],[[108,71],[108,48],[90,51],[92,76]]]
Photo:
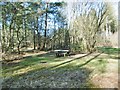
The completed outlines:
[[[35,87],[56,87],[57,85],[60,85],[60,86],[57,86],[57,87],[62,87],[62,88],[72,87],[72,86],[75,87],[75,88],[76,87],[78,87],[78,88],[89,87],[89,84],[86,83],[86,80],[89,78],[89,74],[91,73],[91,71],[88,70],[88,68],[83,68],[83,66],[86,65],[87,63],[89,63],[90,61],[92,61],[93,59],[97,58],[99,55],[100,54],[91,58],[87,62],[81,64],[79,67],[78,66],[77,67],[70,66],[68,64],[64,67],[63,66],[58,67],[58,66],[69,63],[73,60],[80,59],[80,58],[85,57],[87,55],[79,57],[79,58],[75,58],[71,61],[59,64],[59,65],[56,65],[56,66],[53,66],[53,67],[42,68],[42,70],[41,69],[35,69],[35,70],[31,70],[31,71],[28,71],[28,72],[23,73],[23,74],[15,75],[15,76],[13,76],[9,79],[6,79],[3,82],[3,86],[7,87],[7,85],[15,84],[15,82],[28,82],[29,83],[31,80],[33,80],[33,83],[35,83],[35,80],[39,81],[39,80],[43,79],[42,81],[40,81],[43,84],[40,84],[40,85],[39,84],[34,84]],[[58,68],[56,68],[56,67],[58,67]],[[53,68],[55,68],[55,69],[53,70]],[[70,70],[70,68],[72,68],[72,69]],[[28,75],[30,77],[27,77]],[[22,78],[22,80],[19,79],[20,77]],[[42,77],[45,77],[45,78],[42,78]],[[53,77],[54,79],[51,80],[51,77]],[[63,78],[63,77],[65,77],[65,78]],[[29,80],[24,81],[26,79],[29,79]],[[79,81],[79,80],[82,80],[82,81]],[[56,81],[59,81],[59,82],[56,82]],[[78,85],[78,83],[79,83],[79,85]],[[25,83],[22,83],[22,84],[23,84],[23,86],[26,87]],[[54,84],[56,86],[54,86]],[[78,86],[76,86],[76,85],[78,85]],[[31,86],[29,86],[29,87],[31,87]]]

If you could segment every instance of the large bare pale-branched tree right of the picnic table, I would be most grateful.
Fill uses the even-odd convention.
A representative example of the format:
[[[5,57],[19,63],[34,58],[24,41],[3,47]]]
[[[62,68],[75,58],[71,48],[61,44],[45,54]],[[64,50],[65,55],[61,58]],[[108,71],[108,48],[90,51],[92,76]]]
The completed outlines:
[[[99,32],[102,31],[107,17],[111,17],[108,6],[105,2],[82,2],[73,6],[74,19],[70,29],[73,32],[71,40],[75,50],[78,50],[77,47],[80,47],[80,51],[95,50]]]

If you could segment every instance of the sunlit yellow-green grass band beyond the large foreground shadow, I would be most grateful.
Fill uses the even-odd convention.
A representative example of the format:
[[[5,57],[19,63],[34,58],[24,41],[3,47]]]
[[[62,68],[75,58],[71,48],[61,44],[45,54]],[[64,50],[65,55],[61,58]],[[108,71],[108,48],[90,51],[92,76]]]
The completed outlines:
[[[107,49],[105,49],[107,50]],[[111,49],[112,50],[112,49]],[[116,49],[113,49],[116,50]],[[117,51],[114,51],[117,52]],[[74,70],[82,70],[82,68],[88,68],[90,70],[94,70],[96,73],[102,74],[106,72],[106,65],[108,63],[109,58],[116,57],[117,54],[107,54],[108,56],[98,56],[97,58],[93,58],[95,55],[88,55],[84,58],[75,59],[72,62],[64,63],[69,61],[70,57],[58,57],[56,58],[54,55],[49,56],[30,56],[22,59],[18,64],[13,66],[3,66],[3,76],[4,77],[16,77],[16,80],[22,74],[28,75],[34,73],[36,71],[44,71],[44,70],[55,70],[55,73],[64,73],[66,71],[74,71]],[[93,58],[91,60],[91,58]],[[44,63],[43,63],[44,62]],[[88,62],[88,63],[86,63]],[[60,66],[57,66],[61,64]],[[56,67],[54,67],[56,66]],[[53,67],[53,68],[51,68]],[[92,84],[88,84],[92,85]]]

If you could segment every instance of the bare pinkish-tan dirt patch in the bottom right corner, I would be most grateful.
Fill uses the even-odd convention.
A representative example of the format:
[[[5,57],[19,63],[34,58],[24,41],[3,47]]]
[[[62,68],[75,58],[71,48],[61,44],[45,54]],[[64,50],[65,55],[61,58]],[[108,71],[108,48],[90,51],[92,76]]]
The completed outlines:
[[[107,59],[106,71],[94,74],[92,82],[100,88],[118,88],[118,60]]]

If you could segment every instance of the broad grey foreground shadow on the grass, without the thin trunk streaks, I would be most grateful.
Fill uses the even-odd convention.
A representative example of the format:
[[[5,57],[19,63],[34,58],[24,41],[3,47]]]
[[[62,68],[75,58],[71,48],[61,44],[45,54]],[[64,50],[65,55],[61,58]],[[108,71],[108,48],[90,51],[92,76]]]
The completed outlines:
[[[63,69],[64,68],[64,69]],[[65,66],[55,70],[47,70],[47,72],[32,71],[29,76],[20,75],[6,80],[3,83],[3,88],[10,88],[19,82],[18,88],[89,88],[89,75],[92,72],[88,68],[73,68],[73,66]],[[21,79],[20,79],[21,77]],[[30,84],[32,82],[32,85]]]

